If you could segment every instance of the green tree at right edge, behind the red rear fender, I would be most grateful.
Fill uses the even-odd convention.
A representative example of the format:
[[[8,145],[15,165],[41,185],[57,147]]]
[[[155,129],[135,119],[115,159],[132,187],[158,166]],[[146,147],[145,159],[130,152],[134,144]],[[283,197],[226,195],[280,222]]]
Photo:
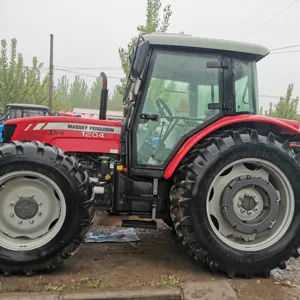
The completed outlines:
[[[274,105],[271,102],[269,106],[269,110],[265,111],[265,114],[267,116],[274,117],[274,118],[300,121],[300,116],[297,113],[299,97],[292,98],[293,90],[294,90],[294,85],[291,83],[287,88],[286,96],[280,97],[280,100],[276,105]]]

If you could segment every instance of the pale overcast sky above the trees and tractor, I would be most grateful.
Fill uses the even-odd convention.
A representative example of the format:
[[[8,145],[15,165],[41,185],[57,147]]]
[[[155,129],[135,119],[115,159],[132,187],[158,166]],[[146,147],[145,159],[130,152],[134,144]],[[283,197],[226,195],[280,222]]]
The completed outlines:
[[[300,44],[300,0],[276,16],[293,2],[162,0],[173,11],[168,32],[258,43],[269,49]],[[80,72],[91,83],[105,71],[115,77],[109,78],[109,88],[113,90],[123,76],[118,48],[126,47],[136,35],[137,25],[145,22],[146,3],[146,0],[0,0],[0,39],[16,38],[25,63],[30,64],[32,57],[37,56],[48,67],[49,36],[53,34],[55,67],[101,68],[80,69],[75,73]],[[300,47],[286,51],[297,49]],[[258,63],[259,94],[274,96],[260,97],[264,108],[270,101],[276,103],[276,97],[283,96],[290,83],[295,86],[294,96],[300,96],[299,66],[300,52],[270,54]],[[43,72],[46,74],[47,70]],[[56,70],[55,78],[63,74],[72,77],[75,73],[74,69]]]

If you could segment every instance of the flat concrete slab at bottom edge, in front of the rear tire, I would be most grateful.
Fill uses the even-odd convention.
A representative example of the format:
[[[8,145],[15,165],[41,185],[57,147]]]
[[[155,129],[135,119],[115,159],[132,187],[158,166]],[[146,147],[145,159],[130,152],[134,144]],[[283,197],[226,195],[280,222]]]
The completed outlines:
[[[225,280],[187,282],[183,294],[184,300],[237,300],[235,291]]]

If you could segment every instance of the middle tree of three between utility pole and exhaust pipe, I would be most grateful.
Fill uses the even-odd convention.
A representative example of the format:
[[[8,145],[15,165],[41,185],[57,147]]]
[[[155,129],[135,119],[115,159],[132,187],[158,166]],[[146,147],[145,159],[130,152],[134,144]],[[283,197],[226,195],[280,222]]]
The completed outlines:
[[[88,108],[89,107],[89,95],[88,85],[84,79],[81,79],[79,75],[75,76],[75,79],[70,89],[70,103],[72,108]]]

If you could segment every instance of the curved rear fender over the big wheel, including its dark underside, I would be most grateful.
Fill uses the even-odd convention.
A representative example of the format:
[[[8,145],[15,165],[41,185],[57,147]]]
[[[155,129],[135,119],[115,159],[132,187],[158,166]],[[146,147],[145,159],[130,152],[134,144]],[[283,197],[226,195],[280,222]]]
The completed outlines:
[[[170,178],[181,160],[186,154],[201,140],[220,129],[227,128],[241,128],[248,127],[253,129],[260,129],[265,132],[273,132],[277,135],[291,135],[297,136],[300,140],[299,123],[293,120],[284,120],[277,118],[270,118],[262,115],[240,115],[224,117],[217,122],[207,126],[203,130],[194,134],[186,140],[186,142],[179,149],[177,154],[173,157],[168,167],[164,172],[164,178]]]

